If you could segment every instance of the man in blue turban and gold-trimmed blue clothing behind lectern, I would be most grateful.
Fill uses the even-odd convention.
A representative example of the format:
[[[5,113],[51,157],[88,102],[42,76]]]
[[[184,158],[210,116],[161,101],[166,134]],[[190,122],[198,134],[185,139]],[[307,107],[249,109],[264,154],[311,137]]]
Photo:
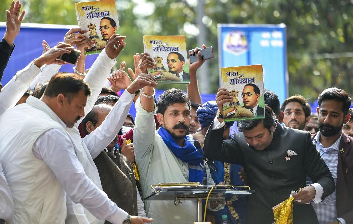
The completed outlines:
[[[199,107],[196,111],[197,117],[201,125],[201,131],[205,135],[208,131],[212,121],[214,120],[218,106],[216,101],[208,101]],[[233,121],[234,122],[234,121]],[[225,131],[223,134],[223,139],[233,139],[233,135],[229,134],[229,127],[233,126],[233,122],[226,122]],[[216,165],[218,172],[211,171],[211,175],[216,184],[219,185],[234,185],[243,186],[238,172],[241,171],[241,165],[233,163],[223,163],[221,161],[212,160]],[[222,222],[222,215],[226,214],[228,216],[229,223],[231,224],[242,224],[244,223],[246,210],[246,198],[239,198],[235,196],[232,200],[227,201],[224,208],[219,211],[211,212],[215,218],[216,223]]]

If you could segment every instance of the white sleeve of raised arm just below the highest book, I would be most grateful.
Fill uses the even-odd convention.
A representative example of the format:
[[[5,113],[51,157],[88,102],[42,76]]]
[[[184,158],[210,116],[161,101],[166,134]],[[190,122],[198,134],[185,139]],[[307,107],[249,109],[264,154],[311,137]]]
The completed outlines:
[[[97,101],[98,95],[101,93],[102,88],[104,87],[104,83],[110,74],[110,70],[115,64],[115,59],[111,59],[105,50],[102,50],[97,59],[93,62],[93,65],[83,79],[89,85],[92,91],[91,96],[87,98],[85,115],[92,110],[94,103]],[[76,127],[82,122],[83,119],[84,116],[79,121],[77,121]]]

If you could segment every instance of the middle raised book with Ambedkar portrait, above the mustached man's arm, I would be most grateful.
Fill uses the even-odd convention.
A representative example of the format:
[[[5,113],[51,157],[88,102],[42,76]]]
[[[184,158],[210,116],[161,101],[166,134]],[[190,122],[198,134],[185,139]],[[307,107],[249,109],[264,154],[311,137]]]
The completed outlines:
[[[143,36],[146,53],[156,67],[148,69],[158,83],[190,83],[185,36]]]

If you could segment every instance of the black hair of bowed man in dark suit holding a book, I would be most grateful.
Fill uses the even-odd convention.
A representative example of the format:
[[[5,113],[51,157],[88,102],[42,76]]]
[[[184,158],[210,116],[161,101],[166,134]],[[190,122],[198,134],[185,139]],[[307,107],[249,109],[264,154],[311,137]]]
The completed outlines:
[[[255,119],[255,120],[243,120],[238,121],[239,131],[251,130],[255,128],[259,123],[263,123],[264,127],[271,132],[271,127],[275,124],[276,120],[273,114],[272,109],[265,104],[265,118],[264,119]]]

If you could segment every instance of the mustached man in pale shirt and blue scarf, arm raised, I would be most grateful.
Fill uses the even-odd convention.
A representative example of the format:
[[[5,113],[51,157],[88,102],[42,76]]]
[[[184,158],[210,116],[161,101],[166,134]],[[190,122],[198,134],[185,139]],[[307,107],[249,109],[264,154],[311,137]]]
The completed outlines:
[[[142,62],[142,69],[145,61],[153,61],[148,58]],[[189,97],[179,89],[169,89],[160,95],[157,119],[161,127],[155,131],[155,91],[151,87],[144,87],[140,92],[141,96],[135,106],[133,140],[143,197],[151,194],[151,184],[189,181],[202,183],[202,156],[193,145],[193,139],[187,136],[190,129]],[[208,183],[214,184],[209,169],[207,171]],[[178,206],[174,205],[174,201],[145,200],[144,204],[148,217],[153,217],[153,223],[196,221],[196,201],[183,201]]]

